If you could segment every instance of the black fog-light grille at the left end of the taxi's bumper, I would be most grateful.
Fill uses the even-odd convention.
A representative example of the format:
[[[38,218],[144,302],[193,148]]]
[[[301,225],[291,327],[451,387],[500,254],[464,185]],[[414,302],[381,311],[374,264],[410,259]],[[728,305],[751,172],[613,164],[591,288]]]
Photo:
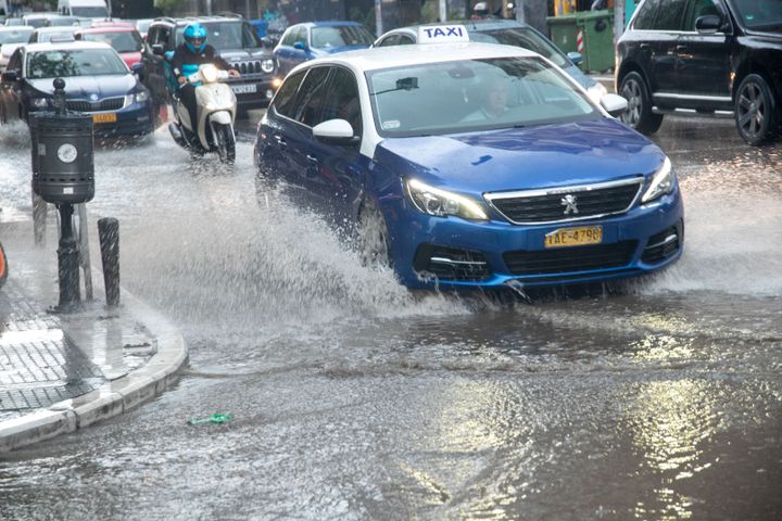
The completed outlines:
[[[416,252],[413,268],[425,277],[443,280],[482,280],[489,277],[489,265],[480,252],[422,244]]]

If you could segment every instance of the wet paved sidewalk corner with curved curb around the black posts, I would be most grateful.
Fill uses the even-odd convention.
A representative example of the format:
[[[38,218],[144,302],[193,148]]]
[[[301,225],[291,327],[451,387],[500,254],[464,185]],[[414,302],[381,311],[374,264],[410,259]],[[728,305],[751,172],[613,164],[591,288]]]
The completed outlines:
[[[122,414],[163,392],[187,361],[180,333],[124,289],[119,307],[105,308],[94,245],[94,300],[75,314],[48,313],[59,300],[55,223],[36,247],[24,214],[0,212],[9,262],[0,289],[0,454]]]

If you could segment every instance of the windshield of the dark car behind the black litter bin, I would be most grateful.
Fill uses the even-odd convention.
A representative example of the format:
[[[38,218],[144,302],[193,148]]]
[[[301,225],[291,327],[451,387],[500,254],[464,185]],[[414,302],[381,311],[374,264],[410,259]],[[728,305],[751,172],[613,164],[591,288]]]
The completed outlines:
[[[27,55],[29,79],[127,74],[119,56],[110,49],[40,51]]]

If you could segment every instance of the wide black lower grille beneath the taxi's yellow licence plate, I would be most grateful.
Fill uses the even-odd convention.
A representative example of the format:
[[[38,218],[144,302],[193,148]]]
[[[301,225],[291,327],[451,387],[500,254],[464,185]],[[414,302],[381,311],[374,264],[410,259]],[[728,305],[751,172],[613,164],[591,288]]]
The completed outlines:
[[[622,241],[592,246],[507,252],[503,258],[513,275],[550,275],[609,269],[630,264],[636,244],[636,241]]]

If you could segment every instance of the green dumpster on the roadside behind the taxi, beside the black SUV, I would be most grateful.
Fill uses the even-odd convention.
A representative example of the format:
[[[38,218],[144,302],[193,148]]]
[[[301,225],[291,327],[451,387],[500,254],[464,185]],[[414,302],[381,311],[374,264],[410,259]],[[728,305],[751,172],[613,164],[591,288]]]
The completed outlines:
[[[563,52],[581,52],[581,68],[603,72],[614,68],[614,11],[583,11],[564,16],[548,16],[552,41]],[[579,51],[581,33],[583,49]]]

